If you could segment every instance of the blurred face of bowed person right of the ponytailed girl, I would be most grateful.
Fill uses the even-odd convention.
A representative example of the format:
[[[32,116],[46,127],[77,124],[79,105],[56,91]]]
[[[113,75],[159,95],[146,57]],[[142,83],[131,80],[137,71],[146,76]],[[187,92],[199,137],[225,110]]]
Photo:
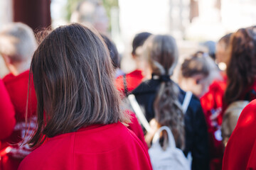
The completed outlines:
[[[201,98],[208,91],[208,84],[203,74],[197,74],[193,77],[180,77],[178,84],[184,91],[191,91],[198,98]]]

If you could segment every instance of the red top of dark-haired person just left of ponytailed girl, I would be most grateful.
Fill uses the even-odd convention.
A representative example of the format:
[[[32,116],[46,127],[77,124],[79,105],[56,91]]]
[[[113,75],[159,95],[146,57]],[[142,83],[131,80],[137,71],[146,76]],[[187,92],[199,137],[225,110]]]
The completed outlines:
[[[125,80],[127,82],[127,92],[133,91],[139,84],[142,82],[143,79],[142,71],[137,69],[133,72],[130,72],[129,74],[125,74]],[[115,85],[117,86],[117,90],[121,91],[123,94],[125,94],[125,88],[124,88],[124,76],[119,76],[115,80]]]

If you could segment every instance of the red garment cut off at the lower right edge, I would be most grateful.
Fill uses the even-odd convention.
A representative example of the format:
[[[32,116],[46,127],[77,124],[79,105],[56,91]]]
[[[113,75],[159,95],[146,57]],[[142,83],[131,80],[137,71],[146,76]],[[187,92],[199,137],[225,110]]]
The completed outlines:
[[[242,111],[223,157],[223,170],[256,169],[256,100]]]

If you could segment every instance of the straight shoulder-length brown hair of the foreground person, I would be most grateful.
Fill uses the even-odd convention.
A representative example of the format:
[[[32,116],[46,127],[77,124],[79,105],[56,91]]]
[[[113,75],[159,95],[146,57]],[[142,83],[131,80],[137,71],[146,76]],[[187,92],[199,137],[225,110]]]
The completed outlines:
[[[60,26],[46,36],[33,55],[31,73],[38,100],[31,147],[87,125],[126,120],[104,42],[85,26]]]

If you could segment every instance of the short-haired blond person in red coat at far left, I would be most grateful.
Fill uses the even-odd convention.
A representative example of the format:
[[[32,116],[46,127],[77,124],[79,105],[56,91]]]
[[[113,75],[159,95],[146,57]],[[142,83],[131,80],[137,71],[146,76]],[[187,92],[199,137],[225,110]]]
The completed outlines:
[[[14,104],[16,125],[10,137],[1,140],[1,151],[6,152],[1,157],[1,168],[18,169],[21,160],[31,152],[27,145],[21,147],[18,142],[28,140],[26,132],[31,133],[36,115],[36,93],[31,80],[31,90],[28,93],[29,67],[31,57],[37,43],[33,30],[23,23],[10,23],[0,31],[0,53],[4,58],[10,74],[4,77],[4,85]],[[26,104],[28,101],[28,122],[31,126],[26,129]]]

